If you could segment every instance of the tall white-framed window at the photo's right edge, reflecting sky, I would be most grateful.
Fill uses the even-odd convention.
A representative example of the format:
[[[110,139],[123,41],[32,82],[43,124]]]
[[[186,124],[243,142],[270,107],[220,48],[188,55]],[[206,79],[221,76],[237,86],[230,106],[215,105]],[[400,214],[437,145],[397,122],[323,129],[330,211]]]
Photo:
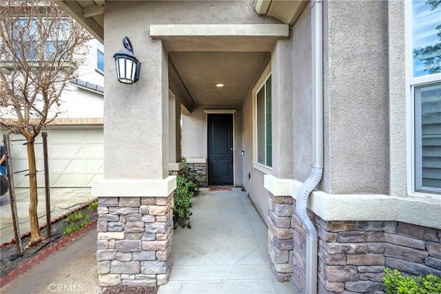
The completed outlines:
[[[411,192],[441,194],[441,3],[407,3]]]

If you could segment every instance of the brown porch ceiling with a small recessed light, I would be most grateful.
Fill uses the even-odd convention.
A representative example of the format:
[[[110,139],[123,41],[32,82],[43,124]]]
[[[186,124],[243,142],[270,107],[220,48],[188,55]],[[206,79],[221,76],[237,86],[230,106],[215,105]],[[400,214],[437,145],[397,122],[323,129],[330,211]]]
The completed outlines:
[[[269,52],[170,52],[170,61],[198,105],[240,105]],[[223,83],[224,87],[216,87]]]

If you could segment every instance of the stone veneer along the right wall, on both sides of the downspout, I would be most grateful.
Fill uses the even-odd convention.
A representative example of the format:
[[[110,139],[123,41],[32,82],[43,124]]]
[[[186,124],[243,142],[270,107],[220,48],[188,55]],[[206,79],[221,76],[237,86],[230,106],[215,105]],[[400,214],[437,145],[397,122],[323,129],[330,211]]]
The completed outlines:
[[[269,194],[269,253],[278,280],[290,278],[305,293],[306,231],[289,198]],[[308,214],[318,232],[318,293],[384,293],[384,267],[441,277],[441,229],[396,221],[327,222]]]

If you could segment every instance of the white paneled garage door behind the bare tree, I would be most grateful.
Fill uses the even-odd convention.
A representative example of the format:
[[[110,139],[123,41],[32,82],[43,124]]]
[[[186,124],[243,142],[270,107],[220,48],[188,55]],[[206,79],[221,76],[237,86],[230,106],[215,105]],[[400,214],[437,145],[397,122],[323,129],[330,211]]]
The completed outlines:
[[[48,133],[50,187],[91,187],[103,178],[103,129],[45,129]],[[11,136],[15,187],[29,187],[28,155],[22,136]],[[44,187],[41,134],[37,137],[37,183]],[[17,172],[18,171],[18,172]]]

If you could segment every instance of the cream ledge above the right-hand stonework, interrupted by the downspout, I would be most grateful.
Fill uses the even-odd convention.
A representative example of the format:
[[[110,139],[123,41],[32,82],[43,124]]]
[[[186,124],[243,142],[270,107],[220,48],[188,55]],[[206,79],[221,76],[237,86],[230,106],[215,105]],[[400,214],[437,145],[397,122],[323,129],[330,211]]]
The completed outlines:
[[[264,187],[274,196],[296,199],[302,182],[265,175]],[[329,194],[313,191],[308,209],[323,220],[396,220],[441,229],[441,202],[437,199],[382,194]]]

